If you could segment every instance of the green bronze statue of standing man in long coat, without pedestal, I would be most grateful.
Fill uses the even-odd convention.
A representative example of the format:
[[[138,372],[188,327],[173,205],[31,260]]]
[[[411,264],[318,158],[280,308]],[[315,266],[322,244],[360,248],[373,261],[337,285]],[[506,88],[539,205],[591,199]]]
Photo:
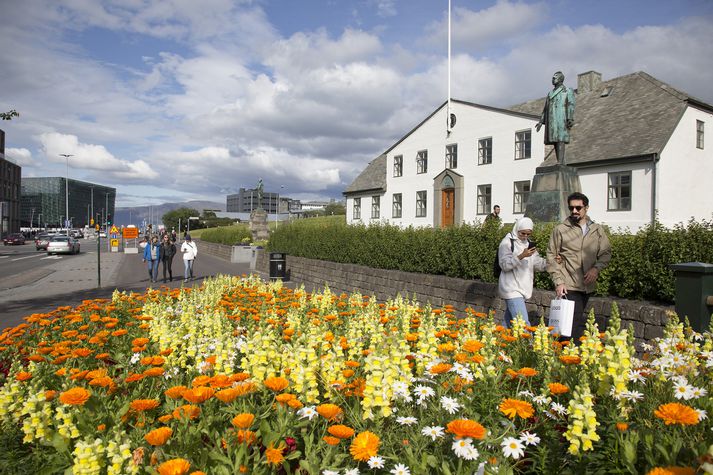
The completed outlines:
[[[564,146],[569,143],[569,129],[574,125],[574,91],[564,85],[562,71],[552,76],[552,85],[535,130],[539,132],[545,125],[545,145],[554,145],[557,163],[565,165]]]

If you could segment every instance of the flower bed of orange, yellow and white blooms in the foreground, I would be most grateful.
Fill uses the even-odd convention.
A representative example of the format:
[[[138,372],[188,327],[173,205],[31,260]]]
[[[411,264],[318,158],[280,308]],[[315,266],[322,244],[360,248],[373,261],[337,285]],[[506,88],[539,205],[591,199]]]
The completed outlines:
[[[637,359],[612,313],[606,333],[590,317],[576,347],[522,321],[506,330],[449,306],[253,278],[115,293],[0,335],[0,464],[75,474],[713,470],[713,336],[672,316]]]

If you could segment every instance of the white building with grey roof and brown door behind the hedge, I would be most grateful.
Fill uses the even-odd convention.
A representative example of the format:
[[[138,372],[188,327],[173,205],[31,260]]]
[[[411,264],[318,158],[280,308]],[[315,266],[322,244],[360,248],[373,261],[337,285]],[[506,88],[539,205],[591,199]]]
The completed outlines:
[[[555,163],[544,128],[535,131],[543,104],[452,100],[457,123],[448,134],[444,103],[347,187],[347,221],[447,226],[482,221],[496,204],[505,222],[523,216],[535,169]],[[713,106],[646,73],[605,82],[580,74],[567,164],[577,168],[591,216],[632,230],[657,215],[666,226],[711,219],[706,122]]]

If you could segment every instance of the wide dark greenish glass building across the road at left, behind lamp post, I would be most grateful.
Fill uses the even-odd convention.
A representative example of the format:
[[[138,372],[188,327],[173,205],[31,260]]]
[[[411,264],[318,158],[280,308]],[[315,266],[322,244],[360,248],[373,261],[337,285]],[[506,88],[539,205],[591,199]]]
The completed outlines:
[[[63,227],[65,219],[64,177],[22,178],[20,221],[23,227]],[[69,180],[69,220],[71,227],[103,225],[114,216],[116,188]]]

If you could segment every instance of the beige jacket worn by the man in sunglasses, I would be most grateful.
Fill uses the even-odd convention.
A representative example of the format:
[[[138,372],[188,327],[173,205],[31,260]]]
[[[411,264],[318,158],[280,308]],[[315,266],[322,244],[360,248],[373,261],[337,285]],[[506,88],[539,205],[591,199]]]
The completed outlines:
[[[555,286],[564,284],[567,290],[592,293],[596,282],[584,284],[584,274],[592,267],[600,271],[611,260],[611,245],[604,228],[591,220],[584,236],[582,228],[569,218],[555,226],[547,246],[547,271]],[[562,257],[557,263],[555,258]]]

